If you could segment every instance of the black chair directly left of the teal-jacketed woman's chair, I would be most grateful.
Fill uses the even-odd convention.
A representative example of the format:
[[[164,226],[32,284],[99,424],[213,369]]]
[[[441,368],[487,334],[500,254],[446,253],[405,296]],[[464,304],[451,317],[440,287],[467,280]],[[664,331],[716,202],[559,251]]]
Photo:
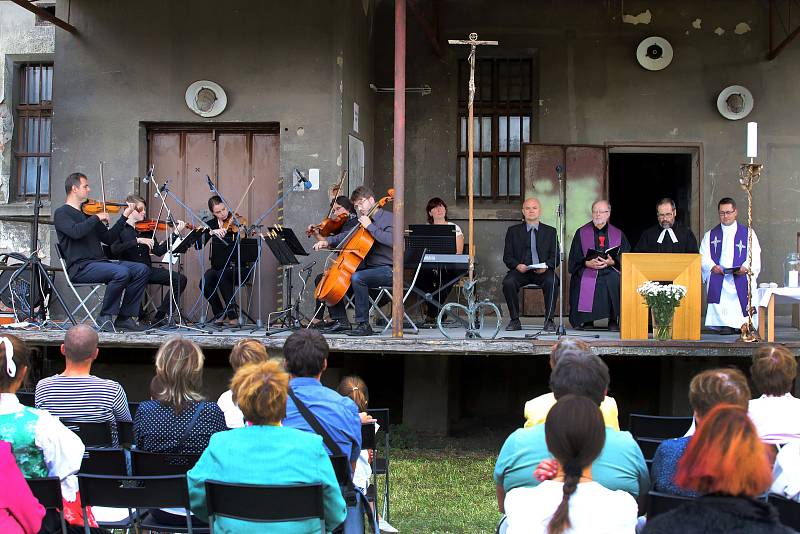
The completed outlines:
[[[161,532],[200,532],[192,526],[189,512],[189,488],[185,475],[157,477],[109,476],[78,474],[78,488],[81,492],[81,506],[86,515],[88,506],[107,506],[127,508],[128,518],[113,523],[98,524],[103,528],[132,528],[143,517],[144,509],[183,508],[186,512],[186,527],[142,523],[142,528]],[[89,525],[85,524],[86,534]],[[204,530],[205,531],[205,530]],[[208,531],[205,531],[208,532]]]

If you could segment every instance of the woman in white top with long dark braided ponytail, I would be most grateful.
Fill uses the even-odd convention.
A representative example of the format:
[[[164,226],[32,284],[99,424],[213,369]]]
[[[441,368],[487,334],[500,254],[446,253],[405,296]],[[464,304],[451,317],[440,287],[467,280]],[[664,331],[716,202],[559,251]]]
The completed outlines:
[[[634,498],[592,480],[592,462],[606,438],[597,404],[586,397],[566,395],[553,406],[544,424],[547,448],[560,466],[558,474],[536,487],[508,492],[506,532],[632,534],[637,515]]]

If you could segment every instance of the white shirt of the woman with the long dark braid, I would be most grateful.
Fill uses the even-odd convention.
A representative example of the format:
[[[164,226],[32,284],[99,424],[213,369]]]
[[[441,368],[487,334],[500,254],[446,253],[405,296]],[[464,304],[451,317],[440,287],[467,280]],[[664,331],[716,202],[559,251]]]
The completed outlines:
[[[547,524],[564,497],[564,483],[547,480],[533,488],[514,488],[506,494],[507,534],[546,534]],[[569,499],[572,527],[565,534],[633,534],[638,505],[622,490],[611,491],[597,482],[578,484]]]

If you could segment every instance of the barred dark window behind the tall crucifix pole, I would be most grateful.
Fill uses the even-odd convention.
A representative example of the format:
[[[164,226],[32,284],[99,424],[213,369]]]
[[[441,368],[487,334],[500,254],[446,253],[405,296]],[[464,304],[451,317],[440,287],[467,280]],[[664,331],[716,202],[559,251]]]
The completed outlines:
[[[522,196],[520,153],[530,141],[534,84],[531,58],[479,59],[475,64],[473,106],[476,198]],[[467,84],[469,63],[459,62],[458,195],[467,195]]]

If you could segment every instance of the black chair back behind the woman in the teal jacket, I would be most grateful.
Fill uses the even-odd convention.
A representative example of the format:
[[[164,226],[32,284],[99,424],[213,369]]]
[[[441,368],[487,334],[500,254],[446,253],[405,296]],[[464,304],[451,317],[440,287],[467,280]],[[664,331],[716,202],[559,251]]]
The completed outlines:
[[[325,532],[321,484],[286,486],[206,481],[206,504],[211,531],[217,516],[260,523],[318,519]]]

